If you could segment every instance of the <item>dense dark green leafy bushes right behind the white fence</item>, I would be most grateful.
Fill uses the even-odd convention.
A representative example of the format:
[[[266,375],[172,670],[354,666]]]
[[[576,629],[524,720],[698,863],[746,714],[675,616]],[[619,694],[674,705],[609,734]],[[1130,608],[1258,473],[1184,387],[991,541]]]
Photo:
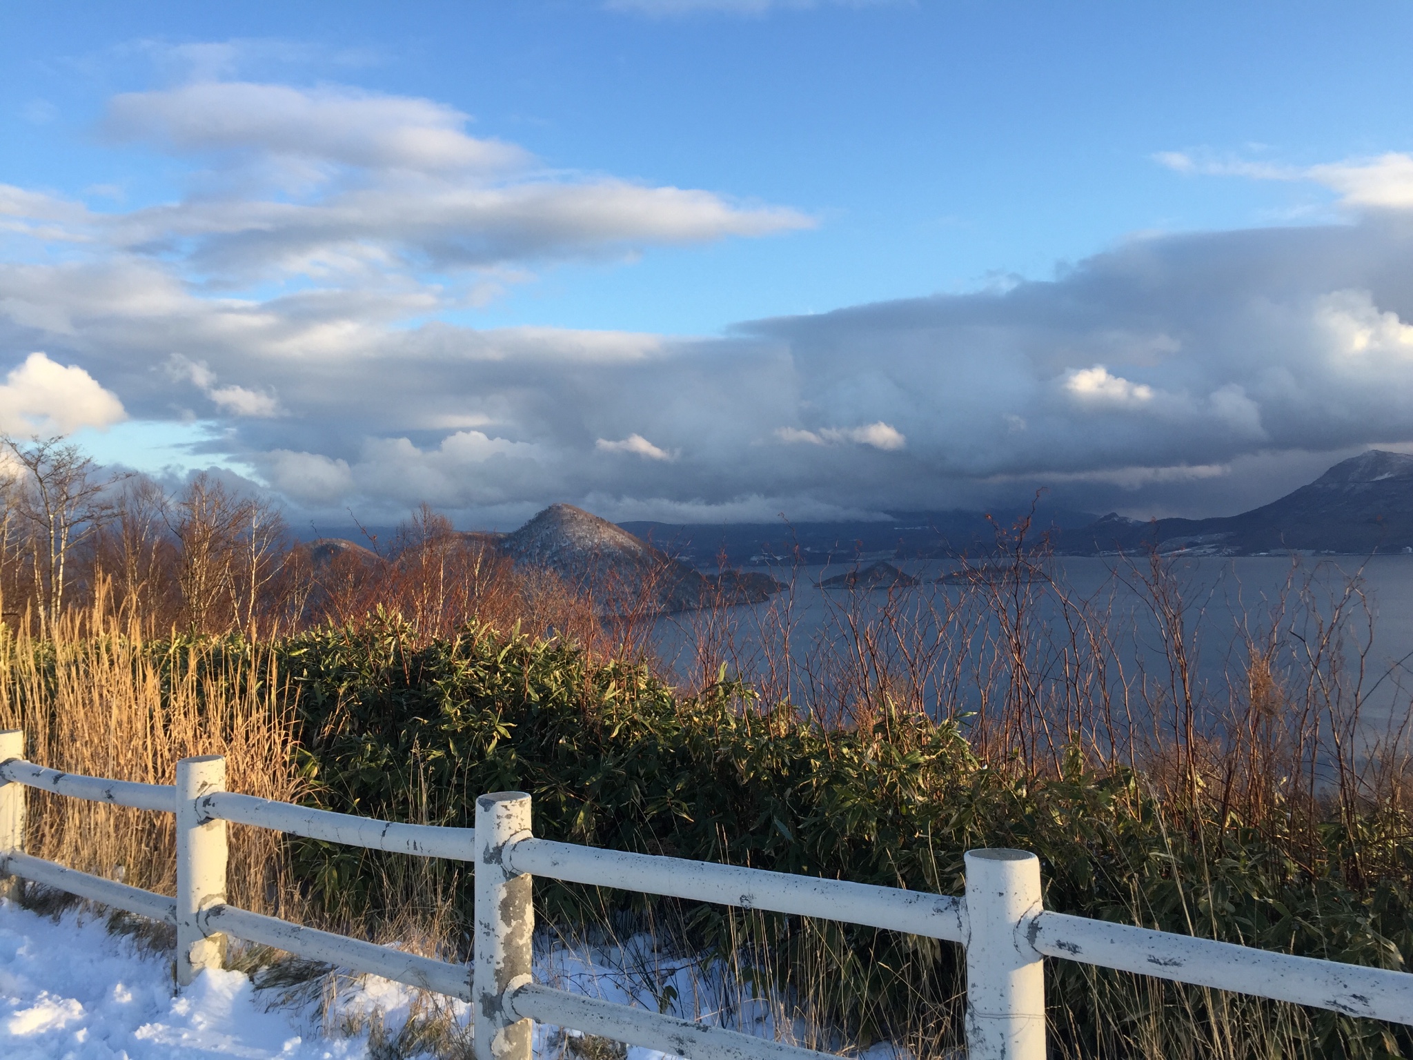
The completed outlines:
[[[942,893],[959,893],[964,851],[1010,845],[1041,856],[1047,907],[1379,967],[1413,955],[1413,848],[1395,806],[1313,834],[1290,807],[1221,820],[1219,793],[1166,799],[1143,773],[1095,772],[1080,753],[1050,776],[991,767],[955,721],[885,709],[825,728],[735,681],[682,698],[647,666],[478,626],[427,646],[386,620],[325,629],[284,656],[312,794],[329,808],[465,827],[476,793],[521,789],[550,838]],[[387,905],[393,871],[377,861],[389,859],[300,851],[329,907]],[[541,885],[538,900],[560,924],[644,917],[629,893]],[[759,943],[760,971],[821,1023],[863,1042],[906,1027],[927,1052],[955,1040],[952,947],[784,919],[756,923],[756,937],[731,920],[682,917],[718,954]],[[825,962],[836,974],[812,978]],[[1072,964],[1050,977],[1057,1035],[1075,1054],[1287,1054],[1306,1036],[1318,1056],[1410,1044],[1334,1013]]]

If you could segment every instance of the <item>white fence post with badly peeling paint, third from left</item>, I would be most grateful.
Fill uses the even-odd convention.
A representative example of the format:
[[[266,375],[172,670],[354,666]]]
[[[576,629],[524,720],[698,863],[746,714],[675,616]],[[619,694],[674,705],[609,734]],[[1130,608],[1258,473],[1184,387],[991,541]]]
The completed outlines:
[[[530,796],[492,791],[476,800],[476,964],[471,975],[476,1060],[530,1060],[530,1020],[504,1008],[512,982],[530,975],[534,905],[528,873],[510,871],[506,847],[530,835]]]

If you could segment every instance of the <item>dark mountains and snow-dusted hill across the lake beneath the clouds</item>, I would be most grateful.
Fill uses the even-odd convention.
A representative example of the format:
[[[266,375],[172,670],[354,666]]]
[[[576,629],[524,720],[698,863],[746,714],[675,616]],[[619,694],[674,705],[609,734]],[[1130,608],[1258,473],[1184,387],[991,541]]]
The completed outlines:
[[[767,574],[740,570],[767,563],[851,565],[824,588],[889,588],[911,577],[883,560],[985,558],[998,529],[1027,512],[899,512],[852,523],[622,523],[551,505],[509,534],[461,531],[468,544],[493,548],[519,565],[554,571],[591,589],[606,611],[650,599],[663,611],[705,602],[762,601],[781,589]],[[1371,449],[1334,465],[1279,500],[1218,519],[1140,522],[1037,506],[1031,534],[1048,536],[1061,555],[1160,553],[1262,555],[1273,553],[1413,553],[1413,457]],[[309,543],[315,564],[353,553],[386,563],[338,537]],[[872,564],[872,565],[869,565]]]

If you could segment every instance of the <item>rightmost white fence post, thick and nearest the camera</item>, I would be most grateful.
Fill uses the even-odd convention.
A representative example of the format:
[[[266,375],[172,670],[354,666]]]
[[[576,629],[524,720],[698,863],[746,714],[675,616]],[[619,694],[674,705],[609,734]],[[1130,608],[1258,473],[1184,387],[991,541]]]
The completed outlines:
[[[1022,934],[1040,909],[1034,854],[966,851],[968,1060],[1044,1060],[1044,964]]]

